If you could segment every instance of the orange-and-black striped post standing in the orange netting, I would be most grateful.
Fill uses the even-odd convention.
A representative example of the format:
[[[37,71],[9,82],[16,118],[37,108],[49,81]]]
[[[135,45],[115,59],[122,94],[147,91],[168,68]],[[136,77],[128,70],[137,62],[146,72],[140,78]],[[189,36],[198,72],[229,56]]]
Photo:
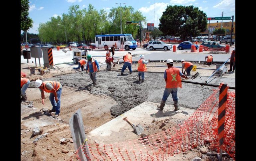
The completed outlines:
[[[225,125],[225,114],[226,114],[226,105],[227,105],[227,84],[220,84],[219,90],[219,109],[218,109],[218,138],[220,145],[220,160],[222,158],[222,150],[224,144],[224,125]]]

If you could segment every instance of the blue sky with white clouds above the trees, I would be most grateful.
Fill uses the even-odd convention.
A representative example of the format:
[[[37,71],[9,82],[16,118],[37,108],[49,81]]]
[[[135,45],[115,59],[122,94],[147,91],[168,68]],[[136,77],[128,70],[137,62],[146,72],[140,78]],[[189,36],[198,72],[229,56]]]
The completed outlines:
[[[223,17],[234,16],[235,21],[235,0],[30,0],[29,2],[29,17],[34,23],[28,33],[34,34],[38,34],[40,23],[49,21],[51,17],[68,13],[69,6],[79,5],[80,9],[83,9],[88,8],[89,3],[98,11],[105,9],[107,12],[113,7],[120,6],[120,3],[122,6],[132,6],[135,10],[141,11],[147,23],[154,23],[155,27],[158,27],[159,19],[167,5],[193,5],[206,13],[207,17],[221,17],[223,10]],[[229,21],[231,20],[223,20],[223,22]]]

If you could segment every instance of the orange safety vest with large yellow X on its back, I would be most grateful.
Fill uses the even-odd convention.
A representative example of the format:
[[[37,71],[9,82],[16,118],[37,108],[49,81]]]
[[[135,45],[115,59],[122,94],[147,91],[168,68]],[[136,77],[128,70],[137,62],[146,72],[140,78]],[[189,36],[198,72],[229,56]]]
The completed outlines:
[[[182,88],[180,69],[171,67],[165,70],[167,75],[167,82],[165,88]]]

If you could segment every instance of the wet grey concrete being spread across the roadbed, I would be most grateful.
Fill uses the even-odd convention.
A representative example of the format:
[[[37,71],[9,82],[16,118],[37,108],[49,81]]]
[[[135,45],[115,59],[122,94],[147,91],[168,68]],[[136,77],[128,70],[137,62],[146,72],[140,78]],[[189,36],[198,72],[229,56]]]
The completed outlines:
[[[138,81],[137,72],[128,74],[129,72],[125,71],[123,76],[120,76],[120,73],[114,71],[98,72],[96,76],[97,86],[92,84],[89,74],[85,72],[57,76],[43,81],[55,80],[70,87],[85,87],[86,90],[109,94],[118,103],[111,107],[110,112],[113,116],[119,116],[145,101],[161,102],[166,85],[163,73],[145,73],[144,83]],[[211,95],[212,90],[217,89],[216,87],[191,83],[183,82],[182,84],[183,88],[178,89],[178,104],[192,109],[197,109]],[[30,83],[29,88],[35,88],[34,82]],[[166,104],[173,105],[171,95]]]

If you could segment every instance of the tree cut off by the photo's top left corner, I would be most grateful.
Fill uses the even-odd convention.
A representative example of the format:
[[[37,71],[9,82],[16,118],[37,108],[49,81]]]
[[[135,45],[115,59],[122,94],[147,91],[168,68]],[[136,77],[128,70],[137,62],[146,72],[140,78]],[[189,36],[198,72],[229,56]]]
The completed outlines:
[[[21,15],[20,15],[21,23],[20,23],[20,30],[25,32],[27,35],[27,31],[33,27],[33,21],[29,17],[29,1],[28,0],[21,0]],[[26,44],[27,44],[27,36],[26,36]]]

